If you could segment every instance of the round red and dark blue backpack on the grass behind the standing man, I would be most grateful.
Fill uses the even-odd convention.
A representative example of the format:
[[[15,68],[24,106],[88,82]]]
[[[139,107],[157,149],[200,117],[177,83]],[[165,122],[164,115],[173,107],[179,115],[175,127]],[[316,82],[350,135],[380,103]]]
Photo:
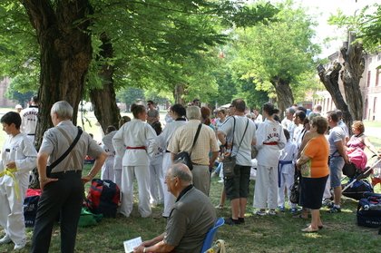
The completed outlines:
[[[86,207],[103,217],[116,217],[121,191],[112,180],[93,179],[86,199]]]

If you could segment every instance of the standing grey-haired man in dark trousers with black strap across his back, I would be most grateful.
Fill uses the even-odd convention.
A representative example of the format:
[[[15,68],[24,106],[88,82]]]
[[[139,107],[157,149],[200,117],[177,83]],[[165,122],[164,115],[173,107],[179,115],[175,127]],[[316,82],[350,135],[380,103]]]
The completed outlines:
[[[60,216],[61,252],[71,253],[74,252],[82,209],[83,183],[92,180],[101,170],[107,154],[89,134],[73,125],[73,107],[68,102],[55,102],[51,117],[54,128],[45,131],[37,155],[37,170],[43,194],[38,203],[31,252],[49,252],[54,222]],[[73,150],[52,167],[52,163],[69,150],[77,136],[80,137]],[[83,158],[86,155],[96,159],[89,174],[82,177]],[[52,168],[47,170],[47,164]]]

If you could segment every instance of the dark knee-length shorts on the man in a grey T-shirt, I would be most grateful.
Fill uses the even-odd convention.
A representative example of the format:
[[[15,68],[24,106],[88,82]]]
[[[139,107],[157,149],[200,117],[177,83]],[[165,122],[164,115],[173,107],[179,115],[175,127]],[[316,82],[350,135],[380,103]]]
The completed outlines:
[[[236,165],[234,167],[234,177],[225,178],[225,191],[228,199],[248,198],[250,170],[250,166]]]

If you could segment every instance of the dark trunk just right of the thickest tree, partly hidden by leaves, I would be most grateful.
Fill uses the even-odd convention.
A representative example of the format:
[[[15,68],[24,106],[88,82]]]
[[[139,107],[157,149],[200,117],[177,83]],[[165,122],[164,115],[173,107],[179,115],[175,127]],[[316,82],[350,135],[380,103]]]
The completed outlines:
[[[101,57],[103,59],[111,59],[113,56],[112,44],[106,34],[101,34]],[[107,61],[106,61],[107,62]],[[98,122],[101,124],[103,132],[109,125],[115,128],[119,127],[121,114],[116,104],[115,90],[113,89],[113,66],[103,64],[99,73],[103,80],[102,89],[93,89],[90,91],[90,99],[94,104],[94,114]]]

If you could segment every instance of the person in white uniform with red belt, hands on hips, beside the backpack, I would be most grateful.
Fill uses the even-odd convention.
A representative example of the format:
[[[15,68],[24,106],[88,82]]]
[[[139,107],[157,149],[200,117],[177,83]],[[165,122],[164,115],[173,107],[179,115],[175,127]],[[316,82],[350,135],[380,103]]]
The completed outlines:
[[[139,213],[142,218],[151,216],[149,157],[157,145],[156,133],[145,122],[147,112],[142,104],[132,104],[133,120],[122,125],[112,138],[113,147],[122,160],[121,213],[130,217],[133,204],[133,180],[136,177],[139,191]]]

